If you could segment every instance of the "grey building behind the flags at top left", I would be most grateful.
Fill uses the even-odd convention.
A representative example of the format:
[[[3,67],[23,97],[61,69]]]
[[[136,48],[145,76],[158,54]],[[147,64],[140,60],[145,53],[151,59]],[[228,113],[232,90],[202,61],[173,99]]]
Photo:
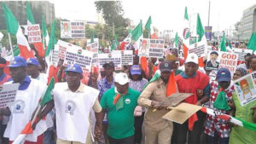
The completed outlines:
[[[20,23],[20,26],[26,25],[26,1],[2,1],[0,2],[0,30],[6,29],[3,14],[3,3],[5,3],[15,15],[16,20],[18,20]],[[55,20],[54,3],[49,3],[48,1],[30,1],[29,3],[31,4],[36,22],[37,20],[40,20],[39,24],[41,24],[42,14],[44,14],[46,25],[52,24],[52,22]],[[35,11],[35,9],[39,9],[40,12]],[[40,16],[36,17],[36,14],[40,14]]]

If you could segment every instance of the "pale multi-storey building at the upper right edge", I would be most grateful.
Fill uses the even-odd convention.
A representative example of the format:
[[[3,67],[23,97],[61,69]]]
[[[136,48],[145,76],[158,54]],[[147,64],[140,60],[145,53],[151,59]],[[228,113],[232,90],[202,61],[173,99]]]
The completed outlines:
[[[249,40],[252,32],[256,32],[256,4],[243,11],[241,21],[236,23],[235,27],[238,30],[237,40]]]

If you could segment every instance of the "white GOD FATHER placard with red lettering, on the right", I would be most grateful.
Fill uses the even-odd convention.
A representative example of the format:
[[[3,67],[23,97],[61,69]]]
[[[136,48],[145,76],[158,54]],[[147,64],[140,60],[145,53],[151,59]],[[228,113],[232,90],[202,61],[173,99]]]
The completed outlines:
[[[229,53],[229,52],[219,52],[220,60],[219,60],[219,66],[218,69],[220,68],[227,68],[230,70],[231,74],[236,72],[236,65],[237,65],[237,58],[238,55],[234,53]]]

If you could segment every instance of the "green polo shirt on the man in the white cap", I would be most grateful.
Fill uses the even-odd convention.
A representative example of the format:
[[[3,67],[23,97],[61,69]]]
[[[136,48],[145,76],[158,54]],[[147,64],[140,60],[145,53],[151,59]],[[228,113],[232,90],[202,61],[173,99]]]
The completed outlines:
[[[140,95],[135,89],[128,89],[124,95],[124,107],[116,110],[113,105],[113,98],[115,96],[114,88],[108,89],[101,100],[102,109],[108,110],[108,135],[114,139],[123,139],[134,135],[134,116],[133,112],[137,107],[137,98]]]

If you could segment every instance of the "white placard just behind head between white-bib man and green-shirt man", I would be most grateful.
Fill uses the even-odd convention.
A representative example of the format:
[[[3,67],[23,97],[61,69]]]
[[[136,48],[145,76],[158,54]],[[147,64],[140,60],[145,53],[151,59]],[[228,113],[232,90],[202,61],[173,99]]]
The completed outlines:
[[[121,65],[121,57],[122,55],[120,53],[116,53],[116,54],[98,54],[98,61],[99,61],[99,67],[100,67],[100,71],[103,71],[103,65],[108,62],[108,61],[112,61],[114,64],[114,69],[115,70],[121,70],[122,65]]]

